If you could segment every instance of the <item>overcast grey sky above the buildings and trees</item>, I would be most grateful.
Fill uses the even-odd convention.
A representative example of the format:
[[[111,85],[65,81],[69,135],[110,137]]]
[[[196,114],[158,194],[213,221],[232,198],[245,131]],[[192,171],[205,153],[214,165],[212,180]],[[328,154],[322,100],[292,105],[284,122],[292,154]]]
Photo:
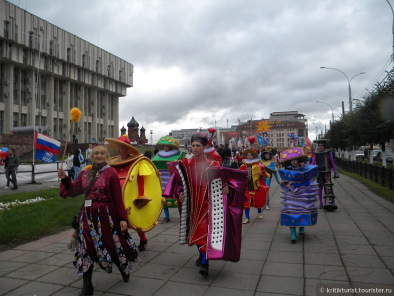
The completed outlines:
[[[389,0],[394,6],[394,0]],[[226,127],[299,111],[316,137],[331,108],[390,70],[393,13],[386,0],[11,0],[134,65],[119,98],[120,127],[134,112],[153,141],[171,129]],[[97,35],[99,34],[99,38]],[[336,108],[340,116],[342,108]],[[319,128],[320,129],[320,128]],[[320,130],[319,130],[320,131]]]

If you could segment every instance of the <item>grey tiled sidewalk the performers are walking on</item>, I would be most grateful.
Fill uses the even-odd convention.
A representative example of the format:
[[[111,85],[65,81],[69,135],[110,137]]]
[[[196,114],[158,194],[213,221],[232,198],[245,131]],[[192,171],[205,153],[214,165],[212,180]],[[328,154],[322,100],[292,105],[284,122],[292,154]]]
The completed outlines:
[[[279,224],[282,194],[273,181],[271,210],[260,220],[251,209],[251,223],[243,225],[241,260],[211,260],[206,277],[195,266],[197,247],[177,242],[179,216],[170,209],[171,222],[147,233],[129,282],[117,268],[113,274],[96,268],[94,295],[316,295],[317,283],[394,284],[394,204],[340,176],[334,180],[339,209],[320,209],[317,225],[296,243]],[[82,278],[66,248],[72,232],[1,252],[0,294],[78,295]]]

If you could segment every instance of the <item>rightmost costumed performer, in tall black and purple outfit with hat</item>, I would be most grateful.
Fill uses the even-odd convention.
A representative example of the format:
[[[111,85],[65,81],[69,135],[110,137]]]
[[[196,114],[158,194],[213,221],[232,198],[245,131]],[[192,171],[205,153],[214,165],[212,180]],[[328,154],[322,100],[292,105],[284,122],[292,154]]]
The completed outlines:
[[[335,195],[331,181],[331,171],[334,170],[334,179],[339,178],[337,167],[335,166],[333,154],[330,150],[326,150],[325,146],[330,142],[328,139],[314,140],[319,145],[318,151],[313,151],[313,159],[311,164],[319,166],[319,175],[317,181],[319,183],[319,208],[331,211],[336,210],[338,205],[335,204]],[[324,206],[323,206],[323,188],[324,188]]]

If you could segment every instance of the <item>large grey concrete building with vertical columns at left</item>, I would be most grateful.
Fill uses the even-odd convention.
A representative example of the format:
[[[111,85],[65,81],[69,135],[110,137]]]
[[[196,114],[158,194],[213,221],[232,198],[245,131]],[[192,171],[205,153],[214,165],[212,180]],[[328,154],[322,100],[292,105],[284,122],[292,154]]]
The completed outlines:
[[[70,109],[79,142],[119,136],[119,96],[133,65],[24,9],[0,0],[0,133],[47,126],[66,140]]]

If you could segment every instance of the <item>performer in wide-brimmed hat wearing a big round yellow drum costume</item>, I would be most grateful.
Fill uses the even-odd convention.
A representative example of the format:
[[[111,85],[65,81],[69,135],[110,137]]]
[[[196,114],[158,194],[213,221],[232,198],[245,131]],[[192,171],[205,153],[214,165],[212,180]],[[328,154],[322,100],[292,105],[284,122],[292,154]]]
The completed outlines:
[[[106,138],[104,142],[108,142],[108,147],[115,149],[118,155],[111,157],[111,166],[120,179],[129,226],[137,231],[138,249],[143,251],[148,244],[145,232],[154,227],[161,213],[161,200],[157,201],[161,199],[159,172],[149,158],[130,144],[127,134],[117,139]]]

